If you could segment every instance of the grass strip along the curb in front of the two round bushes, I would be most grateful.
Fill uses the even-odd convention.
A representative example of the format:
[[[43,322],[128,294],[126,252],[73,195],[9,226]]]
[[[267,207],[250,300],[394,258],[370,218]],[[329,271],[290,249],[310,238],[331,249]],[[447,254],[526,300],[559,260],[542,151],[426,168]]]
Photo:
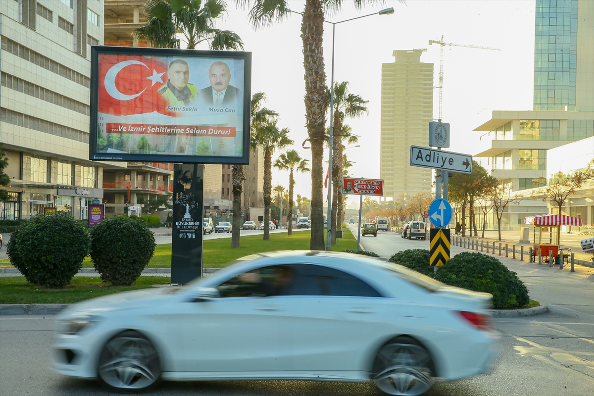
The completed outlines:
[[[50,289],[27,283],[25,277],[0,278],[0,304],[68,304],[106,294],[146,289],[153,284],[169,284],[169,277],[140,277],[132,286],[109,286],[99,277],[74,277],[64,289]]]

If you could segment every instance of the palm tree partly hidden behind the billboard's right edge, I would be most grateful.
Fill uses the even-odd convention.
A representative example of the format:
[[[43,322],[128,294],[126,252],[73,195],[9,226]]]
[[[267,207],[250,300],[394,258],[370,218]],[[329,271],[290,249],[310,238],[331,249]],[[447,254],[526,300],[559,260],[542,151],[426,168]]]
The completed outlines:
[[[277,117],[279,113],[274,110],[262,107],[263,102],[266,102],[266,94],[263,92],[257,92],[252,95],[250,105],[250,141],[255,137],[255,131],[259,128],[263,128],[266,122],[274,117]],[[252,147],[255,150],[255,147]],[[231,236],[231,247],[239,248],[239,234],[241,230],[241,193],[243,192],[243,183],[245,180],[245,170],[243,165],[235,164],[232,167],[232,178],[233,178],[233,235]],[[249,188],[248,188],[249,192]],[[248,199],[245,200],[246,205]]]

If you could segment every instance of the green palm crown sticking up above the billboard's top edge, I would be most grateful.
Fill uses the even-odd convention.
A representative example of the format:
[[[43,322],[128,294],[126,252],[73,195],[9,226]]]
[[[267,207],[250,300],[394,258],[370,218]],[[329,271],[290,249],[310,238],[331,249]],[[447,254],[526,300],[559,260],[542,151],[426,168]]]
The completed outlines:
[[[214,23],[227,12],[222,0],[149,0],[143,8],[147,23],[134,30],[133,36],[153,47],[179,48],[176,34],[182,34],[188,49],[205,41],[210,49],[244,48],[238,34],[214,28]]]

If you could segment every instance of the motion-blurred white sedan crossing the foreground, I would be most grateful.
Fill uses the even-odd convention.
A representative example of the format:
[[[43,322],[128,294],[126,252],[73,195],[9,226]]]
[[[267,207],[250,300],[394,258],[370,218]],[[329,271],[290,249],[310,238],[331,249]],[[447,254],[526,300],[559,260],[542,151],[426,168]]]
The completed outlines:
[[[184,287],[70,306],[55,369],[116,391],[162,380],[372,380],[418,395],[433,376],[488,370],[491,297],[361,255],[257,254]]]

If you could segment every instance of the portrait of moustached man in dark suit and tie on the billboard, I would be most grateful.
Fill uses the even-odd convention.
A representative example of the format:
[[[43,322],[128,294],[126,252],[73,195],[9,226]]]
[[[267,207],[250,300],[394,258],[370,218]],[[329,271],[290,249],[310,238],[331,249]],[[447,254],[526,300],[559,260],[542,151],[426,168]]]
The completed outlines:
[[[225,107],[241,110],[242,93],[239,88],[229,85],[231,72],[225,62],[214,62],[208,70],[210,87],[200,90],[200,96],[208,107]]]

